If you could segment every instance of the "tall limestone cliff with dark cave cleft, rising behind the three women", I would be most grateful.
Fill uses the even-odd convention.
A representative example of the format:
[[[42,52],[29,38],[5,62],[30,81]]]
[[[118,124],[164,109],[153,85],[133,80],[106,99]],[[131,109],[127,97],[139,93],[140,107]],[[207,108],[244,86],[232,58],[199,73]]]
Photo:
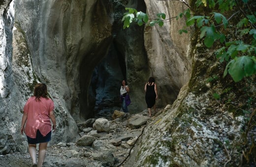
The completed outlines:
[[[68,142],[78,137],[75,120],[93,117],[95,105],[99,106],[97,110],[120,105],[119,87],[123,79],[131,89],[129,111],[139,112],[146,109],[144,84],[150,76],[156,77],[159,85],[159,107],[172,103],[190,77],[187,58],[190,38],[185,36],[184,42],[170,31],[175,25],[146,28],[145,33],[143,26],[122,28],[125,7],[147,10],[152,15],[163,10],[171,15],[167,10],[169,3],[15,0],[9,5],[9,2],[4,1],[1,6],[5,15],[3,37],[7,41],[2,46],[5,66],[1,66],[5,73],[1,82],[1,116],[6,129],[2,133],[2,152],[26,147],[19,126],[34,83],[46,83],[55,102],[58,132],[52,142]],[[13,12],[8,15],[9,11]],[[180,47],[181,40],[184,47]],[[5,121],[11,126],[6,126]],[[21,146],[9,148],[6,141],[10,138],[16,140],[11,142],[13,145]]]

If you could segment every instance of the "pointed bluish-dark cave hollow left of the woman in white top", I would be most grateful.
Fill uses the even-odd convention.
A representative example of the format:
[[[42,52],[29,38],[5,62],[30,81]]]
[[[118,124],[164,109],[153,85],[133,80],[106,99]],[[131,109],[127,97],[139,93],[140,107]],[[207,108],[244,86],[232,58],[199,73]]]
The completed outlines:
[[[94,113],[120,110],[119,90],[126,80],[125,56],[113,42],[108,54],[96,65],[90,84],[90,97],[94,97]],[[103,113],[102,113],[103,112]]]

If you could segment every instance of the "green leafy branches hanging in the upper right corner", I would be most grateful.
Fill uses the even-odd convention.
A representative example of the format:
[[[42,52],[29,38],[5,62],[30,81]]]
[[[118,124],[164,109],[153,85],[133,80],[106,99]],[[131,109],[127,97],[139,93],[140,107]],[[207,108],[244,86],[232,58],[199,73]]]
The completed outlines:
[[[180,1],[184,2],[183,0]],[[186,5],[189,6],[188,4]],[[187,10],[181,12],[178,16],[169,19],[165,19],[164,13],[157,14],[155,19],[149,19],[148,15],[141,11],[137,12],[135,9],[126,8],[128,12],[124,14],[122,19],[124,21],[123,28],[128,28],[132,22],[137,23],[139,26],[143,24],[163,26],[165,21],[185,17],[187,28],[179,30],[179,33],[187,33],[189,27],[195,26],[200,30],[199,37],[207,48],[214,46],[216,43],[219,46],[216,56],[221,62],[227,62],[224,77],[229,74],[235,82],[239,82],[244,77],[255,75],[255,0],[196,0],[195,5],[195,10],[192,10],[192,7],[189,6]],[[206,15],[200,15],[202,12],[199,9],[202,8],[205,9],[204,12],[210,12],[205,12]],[[235,17],[237,15],[239,16]],[[227,17],[229,18],[227,19]],[[236,39],[229,37],[230,34],[228,34],[227,29],[232,27],[232,24],[228,23],[230,21],[236,23]]]

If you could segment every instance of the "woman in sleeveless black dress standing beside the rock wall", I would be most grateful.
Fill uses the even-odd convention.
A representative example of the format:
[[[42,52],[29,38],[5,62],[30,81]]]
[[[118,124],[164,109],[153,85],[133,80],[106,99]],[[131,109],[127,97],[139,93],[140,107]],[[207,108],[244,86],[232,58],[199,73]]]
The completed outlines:
[[[148,106],[149,116],[151,116],[151,108],[154,107],[156,112],[156,99],[158,99],[158,88],[153,77],[149,78],[149,81],[145,84],[145,100]]]

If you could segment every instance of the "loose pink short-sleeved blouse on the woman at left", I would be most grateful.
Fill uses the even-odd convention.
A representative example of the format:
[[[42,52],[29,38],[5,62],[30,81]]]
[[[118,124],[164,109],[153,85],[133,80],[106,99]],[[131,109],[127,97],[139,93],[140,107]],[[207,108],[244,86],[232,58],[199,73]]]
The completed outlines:
[[[28,99],[24,106],[24,112],[28,114],[25,133],[30,138],[36,138],[37,129],[43,136],[51,131],[50,111],[53,111],[54,103],[50,98],[40,97],[35,101],[35,96]]]

